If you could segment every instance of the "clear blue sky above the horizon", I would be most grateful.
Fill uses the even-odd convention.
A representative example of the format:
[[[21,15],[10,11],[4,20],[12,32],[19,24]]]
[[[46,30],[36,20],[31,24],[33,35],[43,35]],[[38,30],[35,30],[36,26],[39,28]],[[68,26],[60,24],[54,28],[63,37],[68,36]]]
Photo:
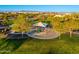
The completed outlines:
[[[79,5],[0,5],[0,11],[79,12]]]

